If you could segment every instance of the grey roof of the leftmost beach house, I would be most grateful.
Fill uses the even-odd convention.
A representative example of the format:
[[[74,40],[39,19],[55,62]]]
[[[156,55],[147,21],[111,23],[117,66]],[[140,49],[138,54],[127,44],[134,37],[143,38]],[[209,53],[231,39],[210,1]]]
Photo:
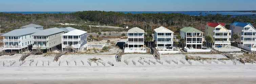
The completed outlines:
[[[10,31],[8,33],[3,34],[2,36],[24,36],[24,35],[33,34],[39,31],[41,30],[36,28],[22,28],[22,29],[16,29],[16,30]]]

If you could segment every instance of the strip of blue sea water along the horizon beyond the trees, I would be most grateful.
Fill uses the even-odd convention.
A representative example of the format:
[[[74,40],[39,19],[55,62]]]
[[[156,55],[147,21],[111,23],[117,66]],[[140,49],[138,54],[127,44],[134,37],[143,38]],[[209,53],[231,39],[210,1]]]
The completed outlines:
[[[44,14],[44,13],[73,13],[75,11],[49,11],[49,12],[5,12],[5,13],[22,13],[22,14]],[[116,11],[116,12],[123,12],[123,13],[132,13],[132,14],[141,14],[141,13],[182,13],[187,15],[193,15],[193,16],[199,16],[200,13],[203,16],[206,16],[208,14],[222,14],[222,15],[233,15],[233,16],[251,16],[253,14],[256,14],[256,12],[234,12],[234,11]]]

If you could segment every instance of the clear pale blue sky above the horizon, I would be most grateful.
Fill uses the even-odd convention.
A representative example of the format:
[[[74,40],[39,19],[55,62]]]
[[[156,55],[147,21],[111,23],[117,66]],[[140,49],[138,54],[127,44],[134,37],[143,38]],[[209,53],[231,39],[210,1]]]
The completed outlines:
[[[0,11],[256,10],[256,0],[1,0]]]

